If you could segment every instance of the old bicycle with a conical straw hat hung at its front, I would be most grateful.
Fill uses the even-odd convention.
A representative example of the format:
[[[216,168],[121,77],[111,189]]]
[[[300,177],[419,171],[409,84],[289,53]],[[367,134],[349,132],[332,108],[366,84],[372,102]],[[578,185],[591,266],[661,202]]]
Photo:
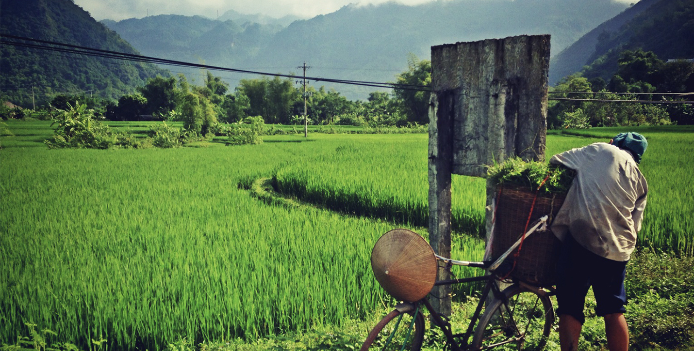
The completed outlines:
[[[425,336],[424,309],[429,312],[432,327],[439,327],[443,331],[447,350],[476,351],[500,346],[505,346],[507,350],[542,350],[555,321],[550,299],[555,290],[506,278],[506,273],[502,272],[509,270],[504,265],[508,264],[506,259],[511,251],[546,222],[547,216],[542,217],[499,258],[483,262],[457,261],[435,255],[421,236],[406,229],[396,229],[384,234],[374,246],[372,268],[379,284],[391,296],[404,302],[396,305],[392,312],[373,327],[361,350],[420,350]],[[384,237],[387,237],[385,244],[382,243]],[[383,252],[398,253],[398,250],[399,254],[394,255],[396,258],[382,258],[386,255]],[[433,279],[431,255],[436,264]],[[387,262],[384,264],[380,261]],[[443,262],[444,268],[449,271],[453,265],[459,265],[481,268],[488,273],[471,278],[436,281],[435,271],[439,268],[439,262]],[[510,285],[501,289],[497,283],[499,278],[504,278]],[[434,285],[469,282],[485,282],[482,298],[477,303],[467,329],[455,334],[448,318],[436,312],[427,296]]]

